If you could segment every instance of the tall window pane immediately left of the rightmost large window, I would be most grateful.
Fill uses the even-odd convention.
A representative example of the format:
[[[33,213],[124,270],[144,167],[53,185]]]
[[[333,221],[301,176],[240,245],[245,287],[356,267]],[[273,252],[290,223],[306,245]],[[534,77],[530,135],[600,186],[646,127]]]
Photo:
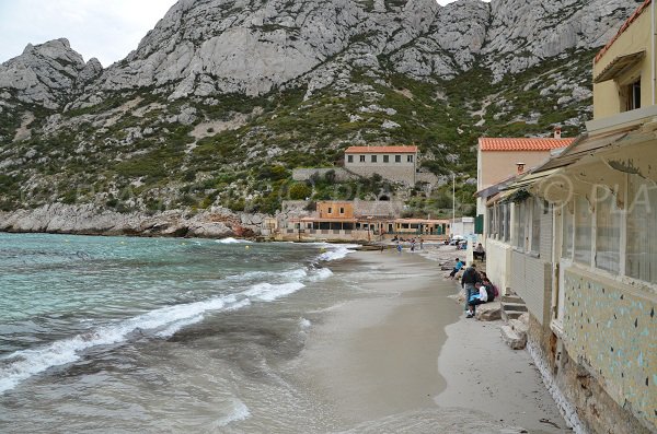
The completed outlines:
[[[615,196],[598,187],[596,204],[596,267],[619,272],[621,260],[621,212]]]

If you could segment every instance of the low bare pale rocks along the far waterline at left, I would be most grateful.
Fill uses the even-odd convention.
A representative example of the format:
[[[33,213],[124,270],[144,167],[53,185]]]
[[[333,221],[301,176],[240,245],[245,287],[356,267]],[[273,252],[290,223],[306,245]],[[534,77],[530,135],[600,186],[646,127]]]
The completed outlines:
[[[234,213],[224,208],[199,212],[169,210],[120,213],[93,204],[46,204],[0,212],[0,232],[76,235],[256,237],[265,214]]]

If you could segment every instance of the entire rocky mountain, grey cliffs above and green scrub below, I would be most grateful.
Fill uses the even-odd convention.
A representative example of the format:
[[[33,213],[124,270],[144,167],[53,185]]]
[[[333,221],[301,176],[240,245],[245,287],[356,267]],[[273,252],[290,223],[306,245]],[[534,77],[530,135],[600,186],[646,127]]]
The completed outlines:
[[[367,196],[378,179],[290,177],[364,143],[419,145],[470,202],[477,137],[579,131],[592,56],[638,3],[181,0],[104,70],[66,39],[28,45],[0,66],[0,209]],[[440,189],[412,202],[451,208]]]

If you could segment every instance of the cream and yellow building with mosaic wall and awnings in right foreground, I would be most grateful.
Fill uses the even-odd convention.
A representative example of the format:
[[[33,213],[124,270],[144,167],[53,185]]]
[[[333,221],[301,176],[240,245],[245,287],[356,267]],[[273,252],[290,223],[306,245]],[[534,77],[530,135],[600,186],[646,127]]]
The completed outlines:
[[[593,77],[615,86],[599,92],[621,91],[623,70],[645,72],[654,58],[625,57],[649,50],[638,37],[649,5],[596,57]],[[530,352],[586,432],[657,431],[657,106],[644,103],[644,87],[635,108],[595,98],[606,107],[587,133],[486,201],[488,255],[507,248],[488,260],[488,275],[506,272],[505,285],[526,301]]]

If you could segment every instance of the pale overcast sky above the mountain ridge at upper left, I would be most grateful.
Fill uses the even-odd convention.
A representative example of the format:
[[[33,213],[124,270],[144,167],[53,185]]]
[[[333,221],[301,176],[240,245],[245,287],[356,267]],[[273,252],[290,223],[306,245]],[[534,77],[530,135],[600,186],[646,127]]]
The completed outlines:
[[[437,0],[440,4],[453,0]],[[103,67],[126,57],[176,0],[0,0],[0,63],[27,44],[66,37]]]

